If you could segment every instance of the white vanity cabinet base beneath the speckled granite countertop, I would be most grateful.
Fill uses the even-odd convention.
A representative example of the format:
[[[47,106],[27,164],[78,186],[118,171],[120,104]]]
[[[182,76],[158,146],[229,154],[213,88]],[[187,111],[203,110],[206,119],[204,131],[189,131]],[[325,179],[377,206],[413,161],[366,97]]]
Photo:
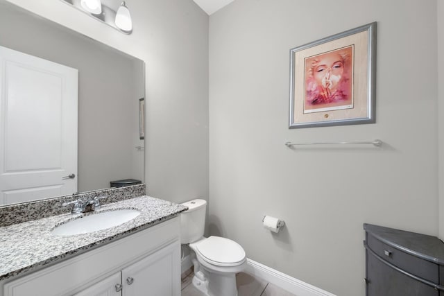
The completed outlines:
[[[179,296],[180,218],[3,285],[3,296],[31,295]]]

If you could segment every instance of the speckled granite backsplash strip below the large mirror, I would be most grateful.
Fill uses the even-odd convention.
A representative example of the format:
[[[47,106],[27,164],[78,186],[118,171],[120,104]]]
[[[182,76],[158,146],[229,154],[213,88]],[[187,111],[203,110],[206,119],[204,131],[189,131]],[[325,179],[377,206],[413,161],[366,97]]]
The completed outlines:
[[[89,198],[94,198],[95,196],[104,195],[108,196],[108,198],[101,200],[101,204],[108,204],[110,202],[126,200],[128,198],[134,198],[136,196],[142,196],[145,194],[145,184],[139,184],[120,188],[87,191],[79,194],[62,195],[56,198],[35,200],[33,202],[4,205],[0,206],[0,227],[69,213],[72,206],[63,207],[63,202],[71,202],[79,199],[85,201]]]

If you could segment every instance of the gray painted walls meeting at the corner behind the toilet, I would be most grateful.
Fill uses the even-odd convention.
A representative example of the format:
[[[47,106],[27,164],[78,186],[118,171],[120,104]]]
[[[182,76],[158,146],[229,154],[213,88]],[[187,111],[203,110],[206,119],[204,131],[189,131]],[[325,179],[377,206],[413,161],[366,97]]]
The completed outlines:
[[[210,60],[208,222],[251,259],[338,295],[364,295],[362,223],[438,233],[435,0],[322,1],[323,10],[237,0],[212,15],[210,40],[208,17],[191,0],[131,1],[130,36],[59,0],[8,1],[146,62],[145,181],[159,198],[208,195]],[[288,130],[289,49],[371,21],[377,123]],[[386,145],[284,146],[375,138]],[[264,214],[287,227],[272,235]]]

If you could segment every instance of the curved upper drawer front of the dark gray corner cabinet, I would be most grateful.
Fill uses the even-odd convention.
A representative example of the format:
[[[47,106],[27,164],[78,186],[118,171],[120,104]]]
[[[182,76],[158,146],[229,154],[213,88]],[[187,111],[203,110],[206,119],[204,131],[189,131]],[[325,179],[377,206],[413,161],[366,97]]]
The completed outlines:
[[[373,252],[377,254],[377,256],[392,263],[398,268],[422,279],[426,279],[427,281],[439,284],[439,267],[437,264],[386,245],[371,234],[367,234],[367,245],[370,247],[370,250],[373,250]]]

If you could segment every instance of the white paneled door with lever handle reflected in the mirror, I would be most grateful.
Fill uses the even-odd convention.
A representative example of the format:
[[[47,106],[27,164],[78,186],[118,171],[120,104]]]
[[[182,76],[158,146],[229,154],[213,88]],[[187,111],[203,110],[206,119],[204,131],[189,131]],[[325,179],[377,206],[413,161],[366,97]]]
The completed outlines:
[[[77,192],[78,71],[0,46],[0,204]]]

